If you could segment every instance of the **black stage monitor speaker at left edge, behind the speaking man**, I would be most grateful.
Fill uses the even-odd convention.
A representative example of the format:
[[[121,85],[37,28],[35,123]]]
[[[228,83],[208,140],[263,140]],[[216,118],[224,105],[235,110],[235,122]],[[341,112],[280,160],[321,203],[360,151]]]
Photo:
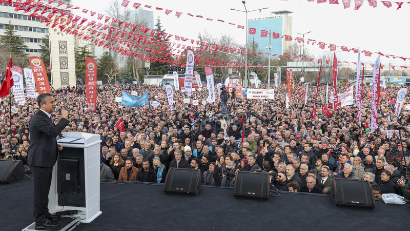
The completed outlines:
[[[20,160],[0,160],[0,182],[11,183],[23,179],[25,168]]]

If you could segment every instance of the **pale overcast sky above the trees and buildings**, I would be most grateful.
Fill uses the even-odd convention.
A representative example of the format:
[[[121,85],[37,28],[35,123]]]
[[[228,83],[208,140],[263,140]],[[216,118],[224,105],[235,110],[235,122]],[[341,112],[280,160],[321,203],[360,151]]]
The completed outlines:
[[[367,1],[364,1],[359,10],[354,10],[354,0],[352,7],[344,9],[343,5],[329,5],[329,3],[317,4],[316,2],[308,2],[306,0],[289,0],[289,1],[262,1],[253,0],[247,1],[247,9],[254,10],[263,7],[269,7],[267,10],[248,13],[248,18],[257,18],[269,16],[271,11],[288,10],[293,13],[293,29],[292,36],[296,37],[297,32],[305,33],[312,31],[305,36],[316,41],[326,44],[336,44],[337,46],[346,46],[348,48],[360,48],[360,50],[368,50],[371,52],[381,52],[383,54],[391,54],[410,58],[410,47],[407,45],[409,38],[408,22],[410,14],[410,4],[404,3],[402,8],[396,10],[397,4],[392,2],[391,8],[386,8],[380,1],[377,2],[376,8],[370,7]],[[86,8],[97,13],[105,13],[105,9],[112,0],[98,1],[79,1],[74,0],[73,5]],[[122,0],[118,0],[119,3]],[[160,16],[161,23],[166,29],[166,32],[176,34],[182,37],[192,38],[197,40],[199,32],[204,30],[212,32],[214,36],[220,36],[222,33],[229,33],[234,36],[238,43],[245,43],[246,30],[237,29],[237,26],[229,25],[228,23],[217,22],[221,19],[225,22],[231,22],[239,25],[245,24],[245,13],[232,11],[230,8],[244,10],[240,0],[208,0],[208,1],[181,1],[181,0],[155,0],[155,1],[130,1],[129,9],[137,2],[142,6],[152,6],[154,12],[154,20]],[[341,2],[341,1],[339,1]],[[162,11],[155,10],[155,7],[163,8]],[[142,8],[149,10],[147,8]],[[169,15],[165,14],[165,10],[169,9],[172,12]],[[183,14],[177,18],[175,11]],[[204,18],[191,17],[187,15],[202,15]],[[88,13],[87,18],[96,20],[96,16],[91,17]],[[205,18],[212,18],[214,21],[207,21]],[[103,22],[104,23],[104,22]],[[263,29],[263,28],[258,28]],[[267,28],[269,30],[269,28]],[[175,42],[173,37],[171,42]],[[188,42],[188,41],[187,41]],[[179,42],[180,43],[180,42]],[[187,43],[191,45],[191,43]],[[307,45],[309,52],[318,57],[323,54],[323,50],[319,49],[316,44],[314,46]],[[325,51],[330,51],[326,45]],[[339,51],[340,48],[337,49]],[[268,51],[265,51],[268,52]],[[336,53],[338,59],[347,62],[356,62],[357,54],[353,51]],[[373,54],[372,57],[365,57],[362,54],[362,62],[374,63],[378,54]],[[401,59],[387,59],[382,56],[382,64],[392,62],[392,65],[409,66],[410,61],[404,63]]]

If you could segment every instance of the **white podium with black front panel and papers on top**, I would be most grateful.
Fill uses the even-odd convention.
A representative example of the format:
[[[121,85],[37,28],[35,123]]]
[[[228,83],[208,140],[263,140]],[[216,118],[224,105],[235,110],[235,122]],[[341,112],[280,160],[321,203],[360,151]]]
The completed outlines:
[[[63,132],[63,146],[54,165],[49,193],[49,211],[79,210],[81,222],[90,223],[101,211],[100,143],[99,135],[83,132]]]

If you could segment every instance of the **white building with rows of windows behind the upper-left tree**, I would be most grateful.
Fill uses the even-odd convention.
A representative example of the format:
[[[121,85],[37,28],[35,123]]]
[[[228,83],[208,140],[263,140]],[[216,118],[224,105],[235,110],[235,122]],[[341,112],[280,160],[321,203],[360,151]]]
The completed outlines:
[[[59,1],[66,4],[70,4],[72,2],[71,0]],[[13,6],[15,4],[15,1],[9,5],[5,4],[6,2],[7,1],[4,1],[4,3],[0,4],[0,36],[4,34],[4,29],[9,25],[10,22],[14,26],[16,34],[23,38],[24,42],[26,43],[27,49],[25,51],[28,53],[28,55],[39,56],[39,44],[43,43],[43,37],[49,33],[48,27],[45,23],[40,23],[41,18],[30,17],[29,15],[31,13],[25,13],[23,10],[17,12],[14,11],[15,8]],[[23,5],[23,1],[21,4]],[[71,9],[66,9],[66,4],[57,7],[58,1],[56,1],[48,5],[67,11],[67,13],[69,13],[71,12]],[[27,9],[27,6],[25,6],[24,8]],[[53,10],[49,9],[48,11],[52,12]]]

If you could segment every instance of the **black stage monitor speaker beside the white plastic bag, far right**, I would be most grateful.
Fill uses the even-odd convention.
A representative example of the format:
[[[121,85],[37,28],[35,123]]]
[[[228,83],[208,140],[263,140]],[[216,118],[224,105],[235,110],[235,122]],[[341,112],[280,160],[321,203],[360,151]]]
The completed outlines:
[[[335,205],[374,208],[375,198],[370,182],[366,180],[334,178],[331,189]]]

